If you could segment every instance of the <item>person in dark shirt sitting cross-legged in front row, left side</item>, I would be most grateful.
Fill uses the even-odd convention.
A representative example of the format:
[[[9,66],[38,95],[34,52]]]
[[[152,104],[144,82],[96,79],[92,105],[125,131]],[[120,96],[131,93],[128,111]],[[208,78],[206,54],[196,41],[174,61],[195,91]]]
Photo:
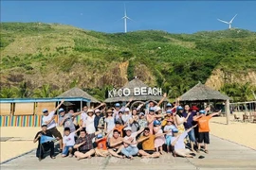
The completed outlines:
[[[80,131],[80,137],[77,139],[76,144],[74,145],[74,148],[78,149],[78,151],[75,152],[75,156],[78,158],[78,160],[91,158],[91,156],[95,153],[92,140],[100,133],[101,131],[96,131],[95,133],[86,134],[85,128],[82,128]]]

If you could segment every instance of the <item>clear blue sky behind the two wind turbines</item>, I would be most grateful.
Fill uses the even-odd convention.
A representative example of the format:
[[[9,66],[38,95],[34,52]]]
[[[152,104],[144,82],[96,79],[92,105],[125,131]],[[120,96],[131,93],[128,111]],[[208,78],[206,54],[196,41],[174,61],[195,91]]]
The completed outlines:
[[[128,31],[194,33],[232,27],[256,31],[256,1],[1,1],[1,22],[59,23],[107,33]]]

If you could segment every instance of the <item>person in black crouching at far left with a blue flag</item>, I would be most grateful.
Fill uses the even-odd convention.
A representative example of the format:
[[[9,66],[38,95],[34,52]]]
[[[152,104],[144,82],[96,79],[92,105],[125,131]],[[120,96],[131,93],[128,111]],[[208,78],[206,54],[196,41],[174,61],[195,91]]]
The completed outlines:
[[[34,141],[33,141],[34,143],[36,143],[38,141],[38,146],[36,149],[36,157],[38,158],[39,161],[41,161],[42,159],[44,159],[45,152],[50,150],[50,158],[55,159],[54,143],[52,141],[50,141],[50,142],[41,144],[41,141],[40,141],[42,135],[52,137],[52,133],[49,130],[47,130],[46,124],[43,124],[41,127],[42,127],[42,130],[37,132],[37,134],[35,135]]]

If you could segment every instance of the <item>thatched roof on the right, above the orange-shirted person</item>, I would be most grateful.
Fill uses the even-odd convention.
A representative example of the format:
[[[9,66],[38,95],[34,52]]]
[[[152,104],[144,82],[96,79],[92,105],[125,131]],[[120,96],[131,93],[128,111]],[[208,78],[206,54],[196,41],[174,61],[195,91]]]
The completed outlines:
[[[209,100],[229,100],[229,96],[214,91],[199,82],[191,90],[180,96],[180,101],[209,101]]]

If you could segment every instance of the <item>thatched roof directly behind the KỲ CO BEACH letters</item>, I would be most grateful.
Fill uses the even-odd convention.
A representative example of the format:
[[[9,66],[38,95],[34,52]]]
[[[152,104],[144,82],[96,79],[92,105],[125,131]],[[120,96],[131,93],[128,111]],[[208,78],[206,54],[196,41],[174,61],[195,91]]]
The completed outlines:
[[[147,89],[145,93],[147,94],[136,94],[135,92],[135,88],[144,88]],[[130,90],[130,94],[127,96],[109,96],[109,98],[107,98],[104,102],[105,103],[114,103],[114,102],[128,102],[131,98],[133,98],[133,101],[148,101],[148,100],[154,100],[154,101],[159,101],[161,100],[162,96],[162,92],[161,95],[159,92],[157,92],[156,94],[151,94],[149,91],[150,88],[148,85],[146,85],[145,83],[143,83],[140,79],[135,78],[131,81],[129,81],[127,84],[125,84],[122,88],[120,88],[120,90]],[[155,88],[156,89],[156,88]],[[158,91],[160,91],[160,89],[157,88]],[[127,90],[128,91],[128,90]],[[156,90],[155,90],[156,91]],[[167,101],[167,99],[165,100]]]

